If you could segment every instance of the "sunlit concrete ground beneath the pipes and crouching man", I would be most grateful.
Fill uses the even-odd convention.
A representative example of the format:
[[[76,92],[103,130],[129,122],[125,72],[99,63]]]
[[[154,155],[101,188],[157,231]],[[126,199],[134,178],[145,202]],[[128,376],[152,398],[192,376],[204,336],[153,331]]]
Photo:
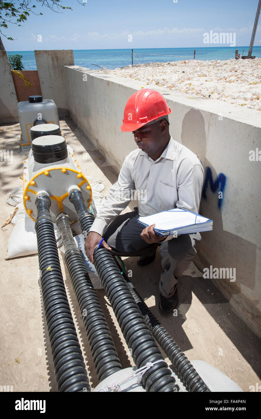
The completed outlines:
[[[108,194],[111,184],[117,180],[117,174],[71,119],[61,120],[60,125],[67,144],[75,151],[83,173],[97,180],[102,179],[105,185],[102,193]],[[6,203],[7,194],[22,184],[20,177],[23,175],[23,160],[28,152],[20,152],[19,139],[19,124],[0,127],[0,149],[13,150],[12,164],[0,161],[3,202],[0,209],[1,225],[14,209]],[[125,211],[132,210],[133,206],[132,203]],[[3,227],[0,241],[0,385],[13,385],[14,392],[57,391],[41,297],[38,257],[34,255],[5,260],[12,229],[10,224]],[[60,251],[59,257],[90,384],[95,388],[98,380],[83,320]],[[157,252],[155,261],[145,267],[137,266],[136,257],[123,259],[137,291],[189,360],[208,362],[234,380],[244,391],[250,391],[250,386],[256,388],[256,383],[261,384],[260,339],[235,314],[212,282],[203,279],[202,272],[193,263],[178,282],[178,316],[166,317],[158,310],[160,254]],[[104,291],[98,290],[97,295],[122,367],[134,365]],[[166,357],[165,360],[168,361]]]

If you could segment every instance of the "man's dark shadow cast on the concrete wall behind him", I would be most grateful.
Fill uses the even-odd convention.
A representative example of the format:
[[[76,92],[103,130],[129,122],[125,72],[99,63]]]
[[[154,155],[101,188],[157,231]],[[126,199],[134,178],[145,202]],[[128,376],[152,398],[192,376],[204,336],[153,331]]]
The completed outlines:
[[[198,155],[204,164],[205,178],[202,191],[200,214],[213,220],[213,231],[202,233],[202,241],[197,246],[195,264],[199,269],[209,268],[235,268],[235,278],[210,278],[222,290],[227,300],[237,301],[238,313],[252,318],[256,324],[256,332],[261,325],[260,312],[257,308],[258,298],[253,299],[243,295],[241,289],[254,290],[256,277],[256,245],[240,238],[238,235],[224,230],[222,208],[228,213],[228,202],[232,207],[230,211],[235,217],[239,209],[233,197],[226,200],[227,173],[217,173],[211,163],[206,160],[207,133],[205,121],[201,111],[190,109],[182,122],[181,142]],[[241,288],[240,288],[241,287]],[[234,304],[235,305],[235,304]]]

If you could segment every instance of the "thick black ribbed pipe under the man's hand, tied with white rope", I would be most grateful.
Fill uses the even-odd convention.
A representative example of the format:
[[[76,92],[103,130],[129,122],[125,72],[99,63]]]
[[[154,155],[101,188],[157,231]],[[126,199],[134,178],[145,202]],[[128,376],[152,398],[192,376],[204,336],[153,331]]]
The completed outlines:
[[[83,234],[88,234],[95,217],[88,212],[82,192],[71,191],[69,199],[75,207]],[[142,376],[142,385],[145,390],[148,392],[179,390],[113,256],[107,249],[101,247],[96,249],[93,258],[94,266],[101,278],[128,348],[132,350],[132,357],[137,368],[145,366],[147,362],[162,361],[150,367]]]

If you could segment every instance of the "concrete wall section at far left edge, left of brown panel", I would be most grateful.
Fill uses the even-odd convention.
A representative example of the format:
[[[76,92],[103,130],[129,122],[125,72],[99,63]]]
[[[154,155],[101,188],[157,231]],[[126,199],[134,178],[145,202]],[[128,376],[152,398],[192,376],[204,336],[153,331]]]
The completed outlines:
[[[17,98],[6,51],[0,51],[0,124],[18,122]]]

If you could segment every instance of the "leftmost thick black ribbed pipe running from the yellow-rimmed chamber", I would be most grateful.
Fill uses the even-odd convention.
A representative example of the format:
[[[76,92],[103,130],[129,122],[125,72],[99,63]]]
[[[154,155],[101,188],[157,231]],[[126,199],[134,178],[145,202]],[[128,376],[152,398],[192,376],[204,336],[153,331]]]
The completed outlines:
[[[46,193],[36,197],[35,230],[44,312],[58,391],[90,391],[83,355],[73,323],[59,262],[54,225]]]

